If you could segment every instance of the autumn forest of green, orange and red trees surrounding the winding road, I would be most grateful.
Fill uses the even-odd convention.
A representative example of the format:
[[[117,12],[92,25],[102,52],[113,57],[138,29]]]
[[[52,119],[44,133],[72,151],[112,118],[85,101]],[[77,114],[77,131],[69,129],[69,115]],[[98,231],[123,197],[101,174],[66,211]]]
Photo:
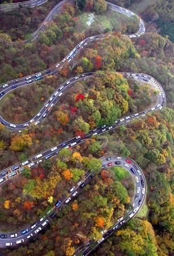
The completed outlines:
[[[77,1],[75,9],[74,5],[64,5],[38,41],[22,43],[26,35],[42,23],[55,2],[48,1],[36,9],[21,9],[19,15],[14,11],[1,16],[1,83],[53,67],[82,39],[97,32],[92,28],[78,32],[78,15],[92,11],[96,15],[107,13],[102,0]],[[112,2],[131,9],[132,5],[142,1]],[[24,122],[39,112],[63,81],[85,72],[96,72],[92,79],[74,83],[42,125],[31,126],[20,134],[11,133],[0,125],[0,165],[3,170],[74,135],[84,136],[97,126],[111,125],[122,116],[151,108],[158,92],[146,84],[126,80],[117,72],[149,74],[160,82],[167,97],[166,108],[93,137],[73,150],[63,149],[56,158],[31,170],[26,168],[22,175],[1,186],[0,223],[1,230],[6,232],[18,229],[19,223],[25,226],[42,217],[60,197],[67,195],[68,189],[89,168],[95,173],[77,199],[57,212],[48,229],[31,243],[15,250],[2,250],[2,255],[72,256],[78,246],[100,239],[101,231],[111,227],[131,207],[134,193],[127,172],[115,168],[101,171],[100,158],[118,153],[130,156],[144,172],[148,187],[145,210],[117,230],[92,255],[112,256],[117,251],[121,256],[172,256],[172,10],[172,1],[156,1],[142,12],[147,32],[140,38],[131,40],[123,35],[136,31],[137,20],[120,25],[118,31],[105,30],[105,39],[88,44],[71,63],[64,65],[58,75],[14,90],[1,100],[0,112],[5,119]],[[24,19],[24,15],[28,18]],[[14,24],[10,16],[16,16]],[[154,16],[156,18],[152,19]],[[113,36],[109,38],[108,34]]]

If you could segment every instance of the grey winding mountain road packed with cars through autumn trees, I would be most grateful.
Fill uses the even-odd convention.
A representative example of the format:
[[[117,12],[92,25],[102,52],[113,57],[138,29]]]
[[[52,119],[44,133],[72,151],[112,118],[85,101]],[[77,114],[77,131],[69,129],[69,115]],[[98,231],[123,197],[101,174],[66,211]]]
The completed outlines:
[[[48,14],[47,18],[44,20],[44,22],[41,24],[41,26],[38,28],[37,31],[32,34],[32,39],[35,40],[38,38],[39,34],[41,31],[44,31],[47,26],[45,26],[45,22],[48,22],[48,20],[51,20],[53,18],[53,15],[56,14],[57,10],[60,9],[60,7],[67,2],[68,0],[64,0],[63,2],[60,2],[57,6],[52,9],[52,11]],[[27,7],[35,7],[38,5],[41,5],[42,3],[47,2],[44,0],[40,1],[27,1],[23,2],[23,6]],[[108,2],[107,2],[108,3]],[[129,10],[123,9],[119,6],[113,5],[111,3],[108,3],[109,7],[115,11],[118,11],[119,13],[132,16],[135,15]],[[6,10],[12,10],[13,8],[18,7],[19,4],[9,4],[9,5],[1,5],[0,10],[6,11]],[[144,22],[142,19],[139,19],[139,30],[136,32],[136,34],[129,35],[130,38],[136,38],[139,37],[140,35],[145,33],[145,26]],[[60,62],[55,65],[55,67],[49,68],[45,71],[42,71],[40,73],[36,73],[34,75],[28,76],[28,77],[23,77],[22,79],[18,80],[12,80],[7,82],[6,84],[3,84],[0,88],[0,100],[11,90],[15,90],[16,88],[20,88],[22,86],[30,86],[33,82],[36,82],[38,80],[43,80],[44,77],[46,76],[51,76],[51,75],[56,75],[59,73],[60,69],[63,68],[63,65],[66,62],[71,62],[74,57],[78,55],[78,53],[81,51],[82,48],[85,48],[88,46],[89,43],[92,43],[93,41],[96,40],[101,40],[105,39],[107,36],[113,36],[113,35],[100,35],[100,36],[90,36],[89,38],[86,38],[82,40],[72,51]],[[71,148],[74,146],[77,146],[78,144],[86,141],[87,139],[90,139],[93,136],[101,135],[103,133],[106,133],[107,131],[111,131],[116,129],[118,126],[126,124],[130,121],[132,121],[135,118],[140,118],[144,117],[147,113],[150,113],[151,111],[155,110],[160,110],[163,108],[166,104],[166,99],[165,99],[165,93],[162,88],[162,86],[159,84],[158,81],[154,79],[154,77],[143,74],[143,73],[127,73],[127,72],[122,72],[121,73],[123,77],[126,79],[134,79],[137,81],[142,81],[144,83],[147,83],[151,85],[153,88],[158,90],[158,102],[153,106],[151,109],[144,110],[143,112],[131,114],[126,117],[122,117],[118,120],[115,120],[115,123],[111,126],[100,126],[97,127],[96,129],[90,130],[88,134],[85,134],[85,137],[74,137],[72,139],[69,139],[68,141],[65,141],[64,143],[57,144],[53,146],[52,148],[49,148],[48,150],[45,150],[43,152],[38,153],[37,155],[31,156],[31,158],[28,158],[24,162],[20,162],[18,164],[15,164],[14,166],[8,167],[5,170],[0,172],[0,184],[4,184],[6,181],[9,179],[13,179],[13,177],[21,174],[24,171],[24,167],[28,166],[30,168],[35,167],[37,164],[42,162],[45,159],[52,158],[53,156],[56,156],[59,154],[59,151],[62,148]],[[53,106],[59,101],[61,97],[64,96],[64,94],[67,92],[71,86],[73,86],[74,82],[78,80],[84,80],[88,77],[96,76],[97,73],[84,73],[82,75],[72,77],[71,79],[63,82],[53,92],[53,94],[49,97],[47,102],[45,102],[44,106],[42,109],[40,109],[40,112],[35,115],[31,120],[28,120],[25,123],[20,123],[20,124],[14,124],[14,123],[9,123],[5,119],[3,119],[2,116],[0,116],[0,121],[3,125],[8,127],[11,131],[22,131],[22,129],[26,129],[30,125],[40,125],[44,121],[44,118],[47,117],[47,115],[51,112]],[[91,253],[92,250],[94,250],[100,243],[105,241],[108,237],[111,236],[115,232],[115,230],[121,228],[123,224],[125,224],[127,221],[130,220],[130,218],[133,218],[136,213],[139,212],[140,208],[143,205],[144,200],[146,199],[146,180],[143,175],[142,170],[134,162],[134,160],[130,158],[125,158],[124,156],[113,154],[113,155],[107,155],[101,158],[102,161],[102,169],[103,168],[110,168],[111,166],[122,166],[125,168],[127,171],[130,172],[132,178],[134,179],[135,183],[135,197],[132,198],[131,202],[131,209],[129,212],[126,213],[125,216],[119,218],[117,223],[110,228],[109,230],[103,230],[103,236],[101,240],[94,242],[88,242],[86,243],[85,246],[80,246],[77,251],[76,255],[78,253],[82,253],[82,255],[88,255]],[[76,188],[72,188],[71,192],[69,192],[68,197],[59,199],[57,203],[46,213],[46,216],[43,216],[40,220],[36,221],[35,224],[28,225],[28,227],[24,230],[20,230],[19,232],[13,232],[13,233],[0,233],[0,247],[1,248],[14,248],[16,246],[21,245],[24,242],[30,241],[31,238],[36,236],[39,232],[42,232],[42,230],[45,228],[45,226],[49,225],[49,222],[51,222],[52,218],[55,217],[55,213],[57,210],[60,210],[60,208],[65,207],[69,202],[71,202],[76,196],[82,191],[82,188],[90,182],[90,180],[93,177],[93,172],[92,171],[87,171],[84,176],[82,176],[81,180],[77,183]],[[75,193],[77,192],[77,193]]]

